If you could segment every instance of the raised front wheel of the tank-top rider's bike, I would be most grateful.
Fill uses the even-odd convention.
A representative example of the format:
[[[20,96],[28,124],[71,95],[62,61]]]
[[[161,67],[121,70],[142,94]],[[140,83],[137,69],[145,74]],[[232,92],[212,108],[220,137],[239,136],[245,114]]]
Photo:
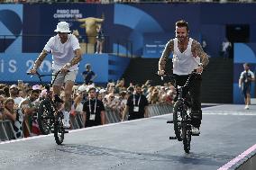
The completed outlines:
[[[182,112],[184,112],[184,105],[181,101],[177,101],[173,108],[173,126],[176,138],[178,141],[182,141]]]

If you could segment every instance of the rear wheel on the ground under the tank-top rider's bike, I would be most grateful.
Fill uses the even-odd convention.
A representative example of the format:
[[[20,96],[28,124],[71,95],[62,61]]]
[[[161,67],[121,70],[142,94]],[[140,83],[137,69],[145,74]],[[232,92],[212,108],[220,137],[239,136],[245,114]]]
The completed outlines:
[[[190,151],[190,142],[191,142],[191,125],[187,124],[185,121],[182,125],[182,138],[184,151],[189,154]]]

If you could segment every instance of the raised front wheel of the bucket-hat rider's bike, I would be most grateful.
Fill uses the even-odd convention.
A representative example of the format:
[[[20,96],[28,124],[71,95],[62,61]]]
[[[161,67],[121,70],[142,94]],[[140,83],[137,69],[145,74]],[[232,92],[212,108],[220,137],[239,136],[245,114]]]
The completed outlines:
[[[53,115],[52,113],[52,106],[50,100],[43,100],[39,104],[38,108],[38,126],[41,131],[41,134],[48,135],[50,133],[50,126],[52,124],[52,120],[50,116]]]

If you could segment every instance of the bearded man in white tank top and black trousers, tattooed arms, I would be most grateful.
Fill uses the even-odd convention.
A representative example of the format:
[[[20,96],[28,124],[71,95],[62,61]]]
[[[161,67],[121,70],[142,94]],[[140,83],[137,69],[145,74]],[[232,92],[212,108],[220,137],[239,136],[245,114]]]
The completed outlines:
[[[159,62],[159,75],[165,74],[165,65],[170,53],[173,53],[173,74],[176,76],[177,85],[185,85],[187,77],[193,70],[202,73],[209,62],[209,57],[197,40],[188,37],[188,23],[184,20],[176,22],[176,38],[169,40],[162,52]],[[199,135],[202,120],[201,110],[201,75],[192,76],[188,91],[192,98],[192,133]]]

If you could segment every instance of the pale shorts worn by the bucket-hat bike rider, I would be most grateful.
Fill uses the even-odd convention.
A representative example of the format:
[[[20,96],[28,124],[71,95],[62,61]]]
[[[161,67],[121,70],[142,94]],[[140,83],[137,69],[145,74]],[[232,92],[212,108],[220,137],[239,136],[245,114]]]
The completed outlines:
[[[53,70],[53,75],[55,75],[58,71]],[[53,85],[63,85],[63,83],[66,83],[67,81],[75,82],[76,77],[78,75],[78,70],[69,71],[68,73],[59,73],[57,78],[55,79]],[[55,76],[52,76],[52,80],[54,80]]]

